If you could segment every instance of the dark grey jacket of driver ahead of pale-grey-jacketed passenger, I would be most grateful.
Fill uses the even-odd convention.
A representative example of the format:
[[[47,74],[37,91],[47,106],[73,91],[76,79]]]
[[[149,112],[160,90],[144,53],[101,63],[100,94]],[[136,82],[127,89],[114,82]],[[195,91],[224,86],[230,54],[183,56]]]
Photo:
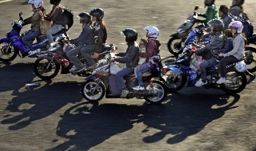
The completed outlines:
[[[209,44],[207,44],[203,48],[197,49],[196,53],[198,55],[202,56],[204,60],[209,60],[213,55],[211,54],[210,50],[217,50],[222,48],[224,45],[224,38],[222,37],[221,33],[216,33],[211,38],[211,41]]]

